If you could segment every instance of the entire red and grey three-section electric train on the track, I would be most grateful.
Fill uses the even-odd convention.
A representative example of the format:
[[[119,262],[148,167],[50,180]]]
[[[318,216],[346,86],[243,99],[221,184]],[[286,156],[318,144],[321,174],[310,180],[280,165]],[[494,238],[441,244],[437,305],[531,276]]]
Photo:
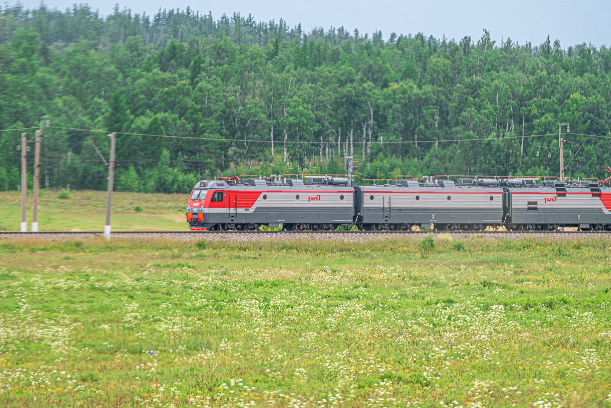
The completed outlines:
[[[346,178],[200,181],[192,230],[611,230],[611,189],[598,183],[459,179],[351,186]]]

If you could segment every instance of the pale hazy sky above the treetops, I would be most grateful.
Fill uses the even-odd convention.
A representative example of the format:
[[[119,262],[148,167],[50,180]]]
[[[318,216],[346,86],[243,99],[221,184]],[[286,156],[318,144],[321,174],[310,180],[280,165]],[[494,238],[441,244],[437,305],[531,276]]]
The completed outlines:
[[[103,15],[111,13],[117,3],[116,0],[86,2]],[[21,3],[32,8],[40,0],[21,0]],[[45,3],[63,10],[74,1],[45,0]],[[582,42],[611,45],[611,0],[123,0],[119,3],[122,9],[126,7],[133,13],[145,11],[150,15],[159,7],[186,9],[188,5],[200,13],[210,10],[215,20],[222,13],[251,13],[257,21],[284,18],[291,27],[301,23],[304,31],[318,26],[325,29],[344,26],[350,31],[358,28],[369,33],[378,29],[384,38],[393,31],[397,34],[420,31],[435,37],[445,34],[456,40],[470,35],[477,40],[486,28],[497,42],[501,37],[511,37],[521,44],[530,40],[538,45],[549,34],[552,42],[558,38],[563,48]]]

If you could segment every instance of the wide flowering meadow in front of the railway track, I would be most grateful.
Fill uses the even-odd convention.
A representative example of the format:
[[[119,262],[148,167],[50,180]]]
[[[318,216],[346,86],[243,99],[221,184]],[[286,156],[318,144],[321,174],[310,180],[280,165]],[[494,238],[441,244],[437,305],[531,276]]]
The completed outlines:
[[[0,241],[0,406],[608,407],[610,250]]]

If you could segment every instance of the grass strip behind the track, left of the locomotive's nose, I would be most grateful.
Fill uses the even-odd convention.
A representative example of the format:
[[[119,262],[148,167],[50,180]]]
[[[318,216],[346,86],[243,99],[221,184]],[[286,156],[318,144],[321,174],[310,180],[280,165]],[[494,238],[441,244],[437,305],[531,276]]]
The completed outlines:
[[[101,231],[106,222],[106,192],[40,190],[38,226],[40,231]],[[112,194],[113,231],[185,231],[186,194]],[[142,211],[135,211],[139,206]],[[21,193],[0,192],[0,231],[18,231],[21,222]],[[32,194],[27,196],[28,229],[32,222]]]

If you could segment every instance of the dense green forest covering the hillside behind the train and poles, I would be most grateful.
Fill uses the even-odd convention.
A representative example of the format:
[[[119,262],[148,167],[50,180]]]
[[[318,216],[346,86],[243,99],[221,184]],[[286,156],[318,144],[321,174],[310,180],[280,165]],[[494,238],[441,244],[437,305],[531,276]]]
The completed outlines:
[[[557,175],[558,123],[611,136],[610,108],[606,46],[496,43],[488,31],[303,32],[189,9],[0,11],[0,129],[49,116],[42,177],[51,187],[106,187],[95,150],[108,160],[106,133],[79,129],[120,132],[115,185],[124,191],[186,191],[240,173],[344,173],[346,151],[370,178]],[[0,133],[1,190],[19,183],[20,133]],[[551,135],[522,138],[538,134]],[[565,139],[567,175],[602,176],[596,167],[611,164],[611,140]]]

